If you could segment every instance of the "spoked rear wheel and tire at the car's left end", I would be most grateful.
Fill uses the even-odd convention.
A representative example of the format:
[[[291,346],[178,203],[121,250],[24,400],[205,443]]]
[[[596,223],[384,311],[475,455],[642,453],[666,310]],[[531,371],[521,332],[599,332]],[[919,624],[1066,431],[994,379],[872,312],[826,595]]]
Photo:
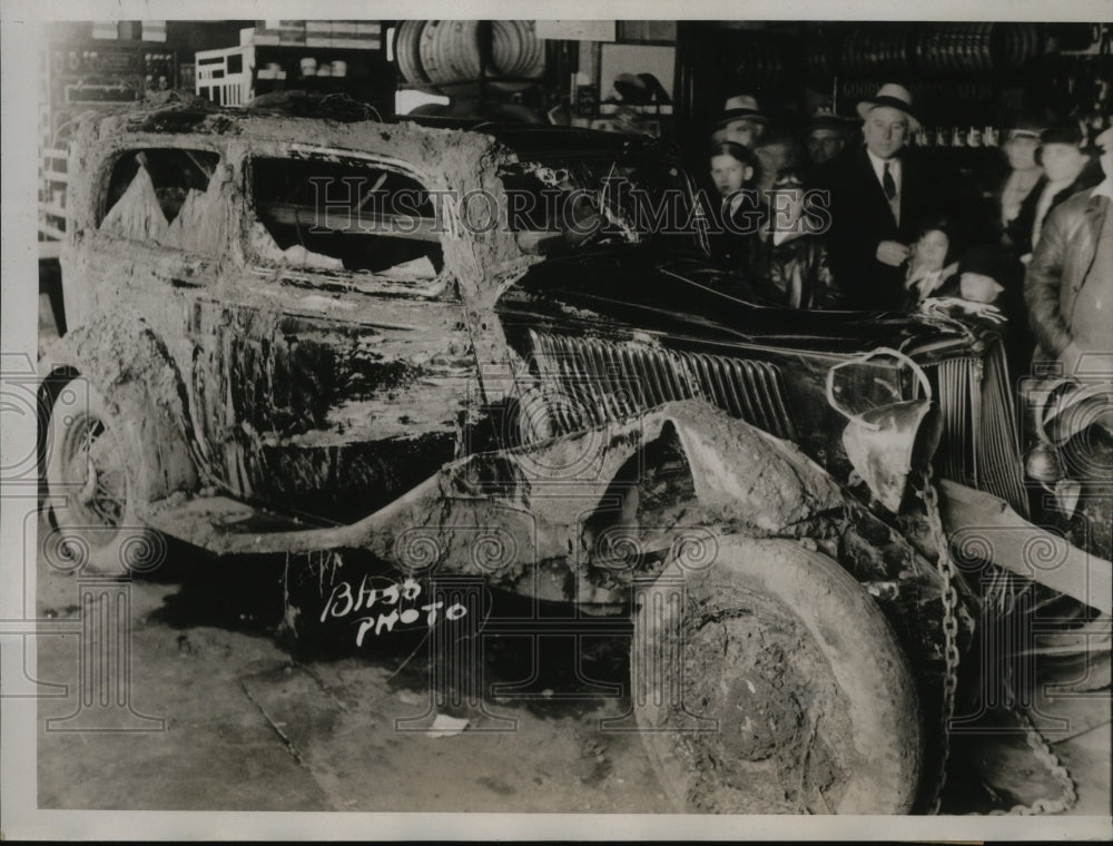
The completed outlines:
[[[62,387],[49,422],[47,488],[55,530],[47,560],[59,570],[128,576],[166,559],[167,539],[136,517],[138,455],[104,397],[82,383],[80,401]],[[68,393],[69,392],[69,393]]]

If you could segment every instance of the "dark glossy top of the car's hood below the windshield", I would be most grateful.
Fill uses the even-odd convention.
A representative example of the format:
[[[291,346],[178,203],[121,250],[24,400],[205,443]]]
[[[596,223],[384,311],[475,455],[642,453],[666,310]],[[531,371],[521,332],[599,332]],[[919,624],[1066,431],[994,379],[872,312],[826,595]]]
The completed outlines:
[[[918,314],[771,306],[748,296],[737,276],[707,259],[658,258],[622,247],[534,265],[503,294],[498,311],[512,340],[515,329],[534,328],[643,336],[709,352],[755,347],[856,355],[890,346],[935,357],[979,347],[987,334],[965,322]]]

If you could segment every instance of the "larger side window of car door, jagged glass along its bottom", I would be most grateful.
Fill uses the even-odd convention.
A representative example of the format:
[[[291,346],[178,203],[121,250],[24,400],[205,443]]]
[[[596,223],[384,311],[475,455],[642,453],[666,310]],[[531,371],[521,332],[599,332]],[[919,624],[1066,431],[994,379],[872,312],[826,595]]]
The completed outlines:
[[[374,163],[254,158],[249,246],[269,264],[429,282],[444,258],[429,191]]]

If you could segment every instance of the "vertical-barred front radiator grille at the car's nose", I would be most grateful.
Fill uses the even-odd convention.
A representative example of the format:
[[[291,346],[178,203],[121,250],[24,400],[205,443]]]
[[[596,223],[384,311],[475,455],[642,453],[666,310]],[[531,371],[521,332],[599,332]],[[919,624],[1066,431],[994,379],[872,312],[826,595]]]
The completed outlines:
[[[1001,344],[984,358],[952,358],[925,367],[936,383],[943,439],[936,452],[940,475],[987,491],[1027,515],[1017,447],[1016,414]]]

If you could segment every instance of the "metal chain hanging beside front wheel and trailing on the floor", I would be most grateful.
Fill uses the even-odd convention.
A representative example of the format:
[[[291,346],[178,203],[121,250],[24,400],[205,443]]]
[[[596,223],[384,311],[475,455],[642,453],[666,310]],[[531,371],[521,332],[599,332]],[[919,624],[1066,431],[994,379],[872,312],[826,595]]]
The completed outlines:
[[[951,720],[955,712],[955,693],[958,689],[958,618],[956,609],[958,607],[958,593],[955,590],[955,564],[951,558],[951,543],[943,529],[943,520],[939,517],[939,499],[932,482],[932,468],[928,466],[924,473],[924,504],[927,511],[928,529],[932,540],[938,550],[937,567],[939,576],[943,577],[943,655],[946,670],[943,679],[943,716],[940,720],[940,745],[943,754],[939,760],[939,774],[932,794],[930,814],[939,813],[940,797],[943,788],[947,783],[947,763],[951,759]],[[1032,805],[1014,805],[1008,810],[992,810],[991,816],[1017,815],[1028,816],[1035,814],[1062,814],[1074,807],[1078,800],[1074,779],[1070,771],[1063,766],[1058,757],[1052,750],[1046,739],[1035,727],[1027,714],[1018,708],[1012,709],[1021,722],[1024,725],[1027,744],[1032,747],[1036,758],[1043,764],[1047,771],[1058,781],[1062,794],[1057,799],[1037,799]]]

